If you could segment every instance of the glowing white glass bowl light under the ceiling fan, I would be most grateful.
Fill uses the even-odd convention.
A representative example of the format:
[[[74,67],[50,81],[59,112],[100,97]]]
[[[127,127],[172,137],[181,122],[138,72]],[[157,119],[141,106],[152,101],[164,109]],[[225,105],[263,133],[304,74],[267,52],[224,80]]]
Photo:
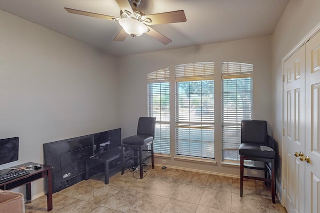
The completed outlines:
[[[122,18],[119,20],[119,24],[124,31],[131,36],[140,36],[144,32],[148,31],[144,23],[133,18]]]

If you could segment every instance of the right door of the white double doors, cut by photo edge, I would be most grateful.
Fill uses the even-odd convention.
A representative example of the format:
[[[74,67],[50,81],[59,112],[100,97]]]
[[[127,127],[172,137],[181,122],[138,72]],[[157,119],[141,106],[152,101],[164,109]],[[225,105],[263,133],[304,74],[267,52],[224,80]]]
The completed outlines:
[[[320,33],[305,44],[305,155],[305,212],[320,213]]]

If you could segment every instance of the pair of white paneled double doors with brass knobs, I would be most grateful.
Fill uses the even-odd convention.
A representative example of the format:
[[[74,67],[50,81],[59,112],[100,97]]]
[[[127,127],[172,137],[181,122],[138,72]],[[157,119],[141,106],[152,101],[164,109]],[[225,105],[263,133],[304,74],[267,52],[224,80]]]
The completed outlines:
[[[320,213],[320,33],[283,70],[285,208]]]

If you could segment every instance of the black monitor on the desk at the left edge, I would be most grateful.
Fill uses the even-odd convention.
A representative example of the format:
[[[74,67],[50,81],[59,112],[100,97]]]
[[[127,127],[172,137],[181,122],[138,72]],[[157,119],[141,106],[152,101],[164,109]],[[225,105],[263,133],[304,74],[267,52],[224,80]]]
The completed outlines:
[[[19,137],[0,139],[0,165],[18,160]]]

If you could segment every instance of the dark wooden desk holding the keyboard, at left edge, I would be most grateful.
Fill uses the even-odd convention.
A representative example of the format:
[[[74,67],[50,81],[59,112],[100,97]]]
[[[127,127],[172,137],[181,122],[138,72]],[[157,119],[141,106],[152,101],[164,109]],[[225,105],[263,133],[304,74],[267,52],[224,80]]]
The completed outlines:
[[[47,165],[41,165],[40,169],[33,169],[35,165],[37,165],[37,163],[33,163],[33,162],[28,162],[25,164],[20,164],[15,166],[14,168],[18,168],[18,167],[27,167],[32,165],[32,170],[30,170],[29,174],[18,177],[16,179],[4,182],[0,184],[0,189],[1,190],[11,190],[20,186],[25,185],[26,188],[26,203],[31,203],[31,182],[36,181],[38,179],[41,178],[45,178],[47,177],[47,181],[48,181],[48,186],[47,186],[47,211],[51,211],[52,210],[52,176],[51,176],[51,170],[52,167],[51,166],[47,166]],[[6,173],[8,172],[10,169],[4,169],[1,170],[0,172],[2,173]]]

